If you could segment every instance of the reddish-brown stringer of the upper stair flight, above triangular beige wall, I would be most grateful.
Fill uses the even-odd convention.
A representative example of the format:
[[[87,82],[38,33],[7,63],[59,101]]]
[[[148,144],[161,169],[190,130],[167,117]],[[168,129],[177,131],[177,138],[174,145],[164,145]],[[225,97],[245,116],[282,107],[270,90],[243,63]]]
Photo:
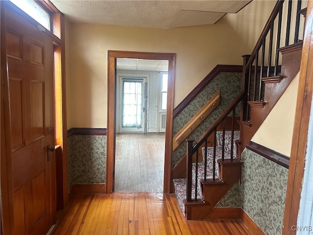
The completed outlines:
[[[281,76],[277,82],[265,82],[264,106],[251,105],[250,122],[240,121],[240,154],[246,148],[265,118],[275,106],[281,95],[287,89],[300,70],[302,42],[280,49],[282,53]]]

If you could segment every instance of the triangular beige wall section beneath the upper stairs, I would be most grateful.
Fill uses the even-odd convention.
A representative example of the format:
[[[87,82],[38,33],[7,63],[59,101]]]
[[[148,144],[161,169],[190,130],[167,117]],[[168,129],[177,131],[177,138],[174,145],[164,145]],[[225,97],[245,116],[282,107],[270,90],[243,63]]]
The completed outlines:
[[[251,141],[290,157],[299,73],[268,114]]]

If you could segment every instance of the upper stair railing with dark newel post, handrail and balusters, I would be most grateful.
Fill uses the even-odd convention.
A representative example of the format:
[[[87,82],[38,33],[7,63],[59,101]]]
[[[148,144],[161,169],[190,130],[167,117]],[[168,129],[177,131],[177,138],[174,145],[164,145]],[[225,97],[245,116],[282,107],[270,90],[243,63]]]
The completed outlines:
[[[283,19],[283,4],[288,3],[288,14]],[[292,7],[292,0],[278,0],[265,24],[262,33],[252,50],[251,55],[244,55],[243,64],[243,82],[244,82],[244,102],[242,106],[242,121],[249,122],[250,106],[248,101],[262,102],[264,99],[264,88],[262,78],[273,77],[281,79],[279,69],[280,49],[285,41],[285,46],[290,45],[291,28],[294,26],[294,38],[291,44],[298,43],[300,16],[305,16],[306,8],[301,9],[302,1],[298,0],[295,7]],[[295,13],[295,21],[291,20],[291,16]],[[275,21],[278,17],[277,26]],[[285,15],[284,15],[285,17]],[[286,35],[282,35],[282,22],[286,21]],[[293,28],[292,28],[293,30]],[[284,32],[284,31],[283,31]],[[292,31],[293,32],[293,31]],[[268,35],[269,34],[269,35]],[[267,38],[269,36],[269,38]],[[267,41],[269,39],[269,42]],[[281,44],[282,41],[282,45]],[[274,50],[275,48],[275,50]],[[259,54],[260,58],[259,58]],[[267,57],[266,57],[267,55]],[[273,62],[273,63],[272,63]],[[254,63],[254,65],[253,65]],[[260,63],[260,64],[259,64]],[[267,65],[265,64],[267,63]],[[272,66],[273,64],[273,66]],[[253,77],[252,77],[252,74]]]

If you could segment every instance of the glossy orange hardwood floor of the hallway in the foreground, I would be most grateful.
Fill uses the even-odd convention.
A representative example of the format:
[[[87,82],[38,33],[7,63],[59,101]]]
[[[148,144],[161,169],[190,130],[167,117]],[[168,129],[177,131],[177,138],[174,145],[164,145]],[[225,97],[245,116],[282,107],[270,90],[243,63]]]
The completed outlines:
[[[250,235],[238,220],[186,220],[174,194],[74,196],[54,235]]]

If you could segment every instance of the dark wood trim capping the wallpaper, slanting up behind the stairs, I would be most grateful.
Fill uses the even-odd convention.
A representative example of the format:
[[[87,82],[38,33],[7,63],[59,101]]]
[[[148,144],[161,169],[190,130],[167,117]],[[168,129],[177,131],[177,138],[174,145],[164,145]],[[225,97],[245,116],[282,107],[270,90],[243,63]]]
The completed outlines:
[[[187,105],[220,73],[220,72],[243,72],[242,65],[217,65],[202,81],[177,105],[173,111],[173,118],[187,107]]]

